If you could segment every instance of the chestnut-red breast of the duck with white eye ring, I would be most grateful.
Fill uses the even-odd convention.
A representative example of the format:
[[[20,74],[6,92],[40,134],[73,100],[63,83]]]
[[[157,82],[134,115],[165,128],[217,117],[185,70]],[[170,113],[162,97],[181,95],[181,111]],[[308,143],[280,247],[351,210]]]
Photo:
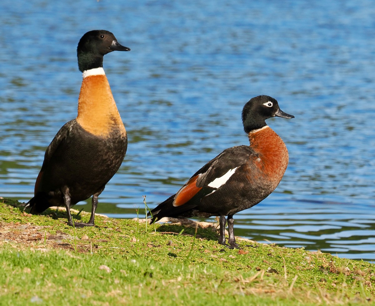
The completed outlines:
[[[250,165],[260,170],[252,173],[261,176],[258,179],[269,181],[275,189],[288,166],[289,155],[284,141],[269,126],[250,132],[248,136],[250,146],[258,153],[258,156],[250,157]]]

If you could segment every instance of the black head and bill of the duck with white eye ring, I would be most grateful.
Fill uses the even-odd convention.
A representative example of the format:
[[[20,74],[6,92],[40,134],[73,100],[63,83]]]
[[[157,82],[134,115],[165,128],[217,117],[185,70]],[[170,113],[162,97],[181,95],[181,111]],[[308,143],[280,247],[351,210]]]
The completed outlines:
[[[246,133],[266,126],[266,119],[270,117],[294,118],[293,115],[284,113],[278,101],[270,96],[258,96],[245,104],[242,110],[243,129]]]

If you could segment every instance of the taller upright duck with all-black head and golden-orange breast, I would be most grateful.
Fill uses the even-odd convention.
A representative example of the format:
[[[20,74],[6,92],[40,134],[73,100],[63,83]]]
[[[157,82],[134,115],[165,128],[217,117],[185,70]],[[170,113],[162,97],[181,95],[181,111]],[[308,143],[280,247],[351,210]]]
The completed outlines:
[[[57,132],[46,150],[34,197],[25,206],[31,213],[64,205],[72,226],[70,207],[92,196],[89,222],[75,222],[75,226],[94,225],[98,196],[117,172],[127,149],[125,127],[103,70],[103,56],[129,50],[105,30],[90,31],[81,38],[77,47],[83,76],[78,115]]]

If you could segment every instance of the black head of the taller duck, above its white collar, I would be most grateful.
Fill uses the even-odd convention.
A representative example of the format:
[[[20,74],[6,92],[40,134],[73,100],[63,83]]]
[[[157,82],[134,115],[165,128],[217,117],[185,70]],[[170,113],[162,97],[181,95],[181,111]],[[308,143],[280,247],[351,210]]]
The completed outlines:
[[[82,36],[77,47],[78,68],[81,72],[103,67],[103,56],[112,51],[130,51],[121,46],[109,31],[94,30]]]

